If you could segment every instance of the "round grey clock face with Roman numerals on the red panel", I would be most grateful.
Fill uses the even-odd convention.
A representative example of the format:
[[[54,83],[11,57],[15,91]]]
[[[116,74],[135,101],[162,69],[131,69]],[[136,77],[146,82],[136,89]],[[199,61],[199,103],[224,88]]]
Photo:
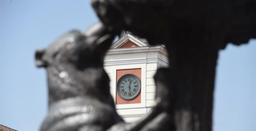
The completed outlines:
[[[121,76],[116,85],[118,95],[123,99],[132,99],[140,92],[140,79],[134,74]]]

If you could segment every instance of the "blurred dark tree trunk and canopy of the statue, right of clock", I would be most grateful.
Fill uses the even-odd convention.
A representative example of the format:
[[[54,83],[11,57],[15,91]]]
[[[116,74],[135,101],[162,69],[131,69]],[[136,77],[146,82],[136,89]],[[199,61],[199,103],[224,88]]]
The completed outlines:
[[[114,34],[128,30],[151,45],[166,45],[167,74],[175,76],[165,81],[175,78],[176,86],[165,87],[173,91],[163,100],[172,105],[168,118],[174,128],[164,129],[211,131],[218,51],[256,38],[256,0],[92,0],[92,5]]]

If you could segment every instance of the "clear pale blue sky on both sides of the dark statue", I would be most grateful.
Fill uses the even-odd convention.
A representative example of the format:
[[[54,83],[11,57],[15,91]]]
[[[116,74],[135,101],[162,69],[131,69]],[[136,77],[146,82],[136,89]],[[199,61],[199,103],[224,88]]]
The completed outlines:
[[[97,22],[90,0],[0,0],[0,124],[36,131],[47,113],[44,69],[36,49],[68,30]],[[214,131],[256,131],[256,40],[220,52]]]

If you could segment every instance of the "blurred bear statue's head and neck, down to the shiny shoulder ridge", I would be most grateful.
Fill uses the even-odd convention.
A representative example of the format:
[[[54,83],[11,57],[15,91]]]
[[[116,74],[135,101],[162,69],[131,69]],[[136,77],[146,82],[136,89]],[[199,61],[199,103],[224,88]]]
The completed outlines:
[[[36,51],[36,65],[47,69],[49,104],[77,96],[112,103],[103,60],[113,39],[99,22],[85,33],[72,30],[46,50]]]

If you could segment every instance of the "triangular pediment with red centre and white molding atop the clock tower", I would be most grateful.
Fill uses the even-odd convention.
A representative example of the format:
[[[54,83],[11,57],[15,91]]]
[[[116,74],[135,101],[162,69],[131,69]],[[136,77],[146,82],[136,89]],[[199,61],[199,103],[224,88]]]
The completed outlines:
[[[115,48],[125,48],[125,47],[143,47],[148,46],[148,44],[142,42],[141,40],[137,39],[133,35],[125,34],[123,37],[118,39],[111,45],[112,49]]]

